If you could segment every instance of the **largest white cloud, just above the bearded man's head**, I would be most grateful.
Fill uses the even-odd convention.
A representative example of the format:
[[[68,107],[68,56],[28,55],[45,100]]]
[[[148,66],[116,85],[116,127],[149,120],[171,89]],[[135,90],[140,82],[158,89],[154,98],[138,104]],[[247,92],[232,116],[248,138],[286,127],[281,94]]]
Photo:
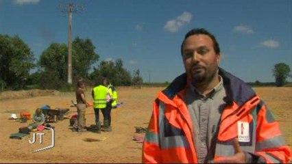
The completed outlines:
[[[191,22],[193,15],[189,12],[184,12],[180,16],[176,17],[173,20],[167,21],[165,25],[165,30],[169,32],[177,32],[182,27],[188,25]]]

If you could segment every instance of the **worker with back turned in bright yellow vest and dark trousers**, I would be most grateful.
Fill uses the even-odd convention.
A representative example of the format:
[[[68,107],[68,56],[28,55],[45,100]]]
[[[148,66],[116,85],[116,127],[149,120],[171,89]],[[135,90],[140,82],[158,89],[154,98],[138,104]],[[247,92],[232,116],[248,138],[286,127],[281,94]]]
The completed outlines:
[[[106,81],[106,79],[103,79],[103,82],[104,81]],[[99,109],[101,109],[101,112],[104,115],[104,124],[105,124],[105,122],[108,122],[108,116],[106,114],[106,100],[108,96],[108,88],[105,85],[101,85],[101,83],[99,83],[98,86],[93,88],[91,95],[93,96],[93,100],[94,100],[93,108],[95,111],[95,124],[97,126],[96,130],[97,130],[97,133],[101,133],[101,122],[99,122]]]

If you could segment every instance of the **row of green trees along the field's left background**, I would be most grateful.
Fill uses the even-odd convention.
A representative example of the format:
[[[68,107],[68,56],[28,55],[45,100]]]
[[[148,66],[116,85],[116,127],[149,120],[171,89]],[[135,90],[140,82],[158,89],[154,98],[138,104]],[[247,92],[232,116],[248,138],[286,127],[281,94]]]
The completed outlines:
[[[29,86],[40,89],[73,88],[82,79],[97,85],[104,77],[114,85],[141,85],[140,70],[131,74],[123,67],[123,60],[99,61],[90,39],[75,38],[72,42],[73,84],[67,84],[68,46],[53,42],[36,60],[34,53],[19,36],[0,34],[0,85],[2,90],[20,90]],[[32,74],[31,70],[36,70]],[[91,72],[90,72],[91,70]]]

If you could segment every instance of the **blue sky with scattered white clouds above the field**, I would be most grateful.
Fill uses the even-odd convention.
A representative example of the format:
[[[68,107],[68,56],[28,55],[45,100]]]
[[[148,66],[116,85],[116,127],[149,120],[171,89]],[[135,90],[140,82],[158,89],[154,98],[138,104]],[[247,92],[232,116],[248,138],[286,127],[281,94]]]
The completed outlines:
[[[194,27],[215,34],[220,66],[244,81],[274,81],[280,62],[292,70],[290,0],[0,0],[0,33],[19,35],[38,59],[51,42],[68,43],[69,16],[60,11],[69,2],[84,6],[73,14],[72,37],[92,40],[101,60],[139,68],[145,82],[184,72],[180,44]]]

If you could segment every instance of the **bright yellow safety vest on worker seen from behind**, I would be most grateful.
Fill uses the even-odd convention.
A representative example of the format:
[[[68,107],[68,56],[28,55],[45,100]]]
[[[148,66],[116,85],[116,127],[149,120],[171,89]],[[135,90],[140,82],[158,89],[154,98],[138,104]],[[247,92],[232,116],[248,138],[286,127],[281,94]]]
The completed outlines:
[[[106,94],[108,93],[108,88],[104,85],[98,85],[93,88],[93,93],[95,96],[95,100],[93,102],[94,108],[105,108],[106,107]]]

